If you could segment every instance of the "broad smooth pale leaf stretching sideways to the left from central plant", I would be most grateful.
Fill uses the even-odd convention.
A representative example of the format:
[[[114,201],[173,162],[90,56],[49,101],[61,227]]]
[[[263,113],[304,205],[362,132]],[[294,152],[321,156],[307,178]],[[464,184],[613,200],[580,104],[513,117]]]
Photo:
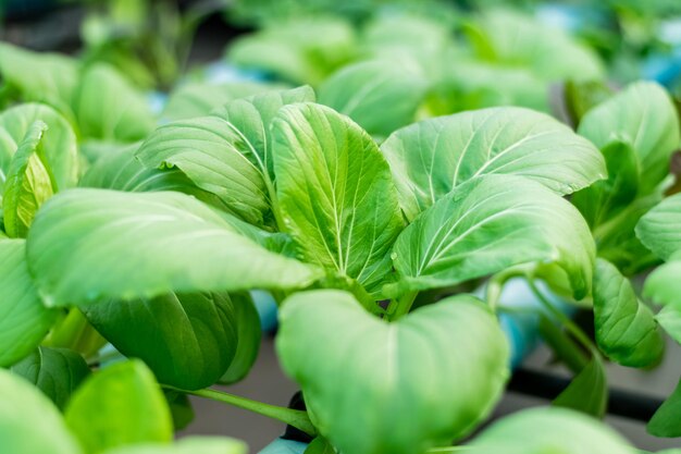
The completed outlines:
[[[225,219],[179,193],[72,189],[36,216],[28,263],[51,306],[304,287],[319,277],[317,269],[243,236]]]

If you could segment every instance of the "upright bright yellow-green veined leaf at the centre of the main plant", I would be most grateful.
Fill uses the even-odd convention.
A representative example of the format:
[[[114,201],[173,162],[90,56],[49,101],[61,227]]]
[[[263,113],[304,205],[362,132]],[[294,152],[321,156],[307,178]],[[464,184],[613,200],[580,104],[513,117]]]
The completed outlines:
[[[283,108],[272,136],[282,216],[302,255],[372,290],[391,271],[388,251],[403,229],[376,144],[347,116],[313,103]]]

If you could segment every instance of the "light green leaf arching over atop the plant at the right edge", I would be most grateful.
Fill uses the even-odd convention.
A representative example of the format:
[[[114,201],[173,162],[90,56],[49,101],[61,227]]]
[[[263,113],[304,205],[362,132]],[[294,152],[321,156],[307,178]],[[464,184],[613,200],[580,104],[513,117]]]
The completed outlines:
[[[578,132],[599,148],[612,140],[629,143],[639,158],[642,195],[667,176],[669,159],[681,142],[676,108],[654,82],[634,83],[599,103],[584,115]]]

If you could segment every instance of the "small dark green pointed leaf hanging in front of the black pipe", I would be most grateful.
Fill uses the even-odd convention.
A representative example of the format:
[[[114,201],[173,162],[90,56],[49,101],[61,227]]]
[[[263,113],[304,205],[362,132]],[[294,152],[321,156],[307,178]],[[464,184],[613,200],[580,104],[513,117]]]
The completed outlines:
[[[603,418],[608,405],[608,382],[603,360],[594,356],[554,400],[553,405]]]

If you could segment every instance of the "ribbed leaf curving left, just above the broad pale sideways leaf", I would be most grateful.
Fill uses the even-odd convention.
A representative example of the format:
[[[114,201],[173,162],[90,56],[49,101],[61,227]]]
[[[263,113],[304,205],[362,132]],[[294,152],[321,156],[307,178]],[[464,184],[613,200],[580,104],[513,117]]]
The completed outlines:
[[[215,194],[230,212],[263,224],[270,196],[262,170],[247,157],[242,132],[219,116],[182,120],[157,128],[137,150],[147,168],[177,168]]]

